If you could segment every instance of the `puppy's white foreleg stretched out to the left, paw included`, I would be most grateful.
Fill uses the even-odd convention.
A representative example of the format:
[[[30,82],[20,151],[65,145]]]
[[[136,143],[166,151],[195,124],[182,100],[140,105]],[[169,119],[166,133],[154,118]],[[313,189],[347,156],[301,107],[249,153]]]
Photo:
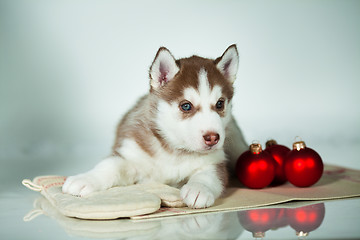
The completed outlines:
[[[62,187],[64,193],[86,196],[118,185],[135,181],[136,170],[120,156],[105,158],[88,172],[68,177]]]

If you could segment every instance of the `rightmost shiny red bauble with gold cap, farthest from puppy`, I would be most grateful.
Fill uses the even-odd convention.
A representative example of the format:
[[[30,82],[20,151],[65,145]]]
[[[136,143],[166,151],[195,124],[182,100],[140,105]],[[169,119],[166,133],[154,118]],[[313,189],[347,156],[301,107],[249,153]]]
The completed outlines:
[[[306,147],[303,141],[293,144],[285,160],[285,175],[290,183],[309,187],[319,181],[323,171],[324,164],[317,152]]]

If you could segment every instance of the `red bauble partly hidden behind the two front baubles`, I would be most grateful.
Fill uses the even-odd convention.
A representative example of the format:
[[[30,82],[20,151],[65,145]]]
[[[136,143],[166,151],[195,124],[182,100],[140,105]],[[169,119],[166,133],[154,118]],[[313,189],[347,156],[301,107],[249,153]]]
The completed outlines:
[[[264,151],[270,153],[276,163],[275,178],[272,183],[275,185],[285,183],[287,179],[284,170],[284,162],[286,155],[290,152],[290,148],[277,144],[275,140],[269,140],[266,142],[266,148]]]

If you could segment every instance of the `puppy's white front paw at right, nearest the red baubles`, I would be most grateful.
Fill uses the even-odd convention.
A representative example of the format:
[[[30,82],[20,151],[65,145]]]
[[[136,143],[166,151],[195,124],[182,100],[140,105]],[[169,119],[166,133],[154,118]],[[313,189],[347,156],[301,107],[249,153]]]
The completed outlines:
[[[211,190],[200,183],[188,183],[180,191],[184,203],[191,208],[210,207],[215,202],[215,196]]]

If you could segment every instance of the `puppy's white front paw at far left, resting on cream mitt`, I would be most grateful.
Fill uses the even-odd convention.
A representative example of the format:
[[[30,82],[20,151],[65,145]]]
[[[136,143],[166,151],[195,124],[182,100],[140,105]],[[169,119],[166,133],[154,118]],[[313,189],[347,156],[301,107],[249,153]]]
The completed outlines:
[[[62,187],[63,193],[82,197],[99,190],[102,190],[101,184],[90,173],[68,177]]]

